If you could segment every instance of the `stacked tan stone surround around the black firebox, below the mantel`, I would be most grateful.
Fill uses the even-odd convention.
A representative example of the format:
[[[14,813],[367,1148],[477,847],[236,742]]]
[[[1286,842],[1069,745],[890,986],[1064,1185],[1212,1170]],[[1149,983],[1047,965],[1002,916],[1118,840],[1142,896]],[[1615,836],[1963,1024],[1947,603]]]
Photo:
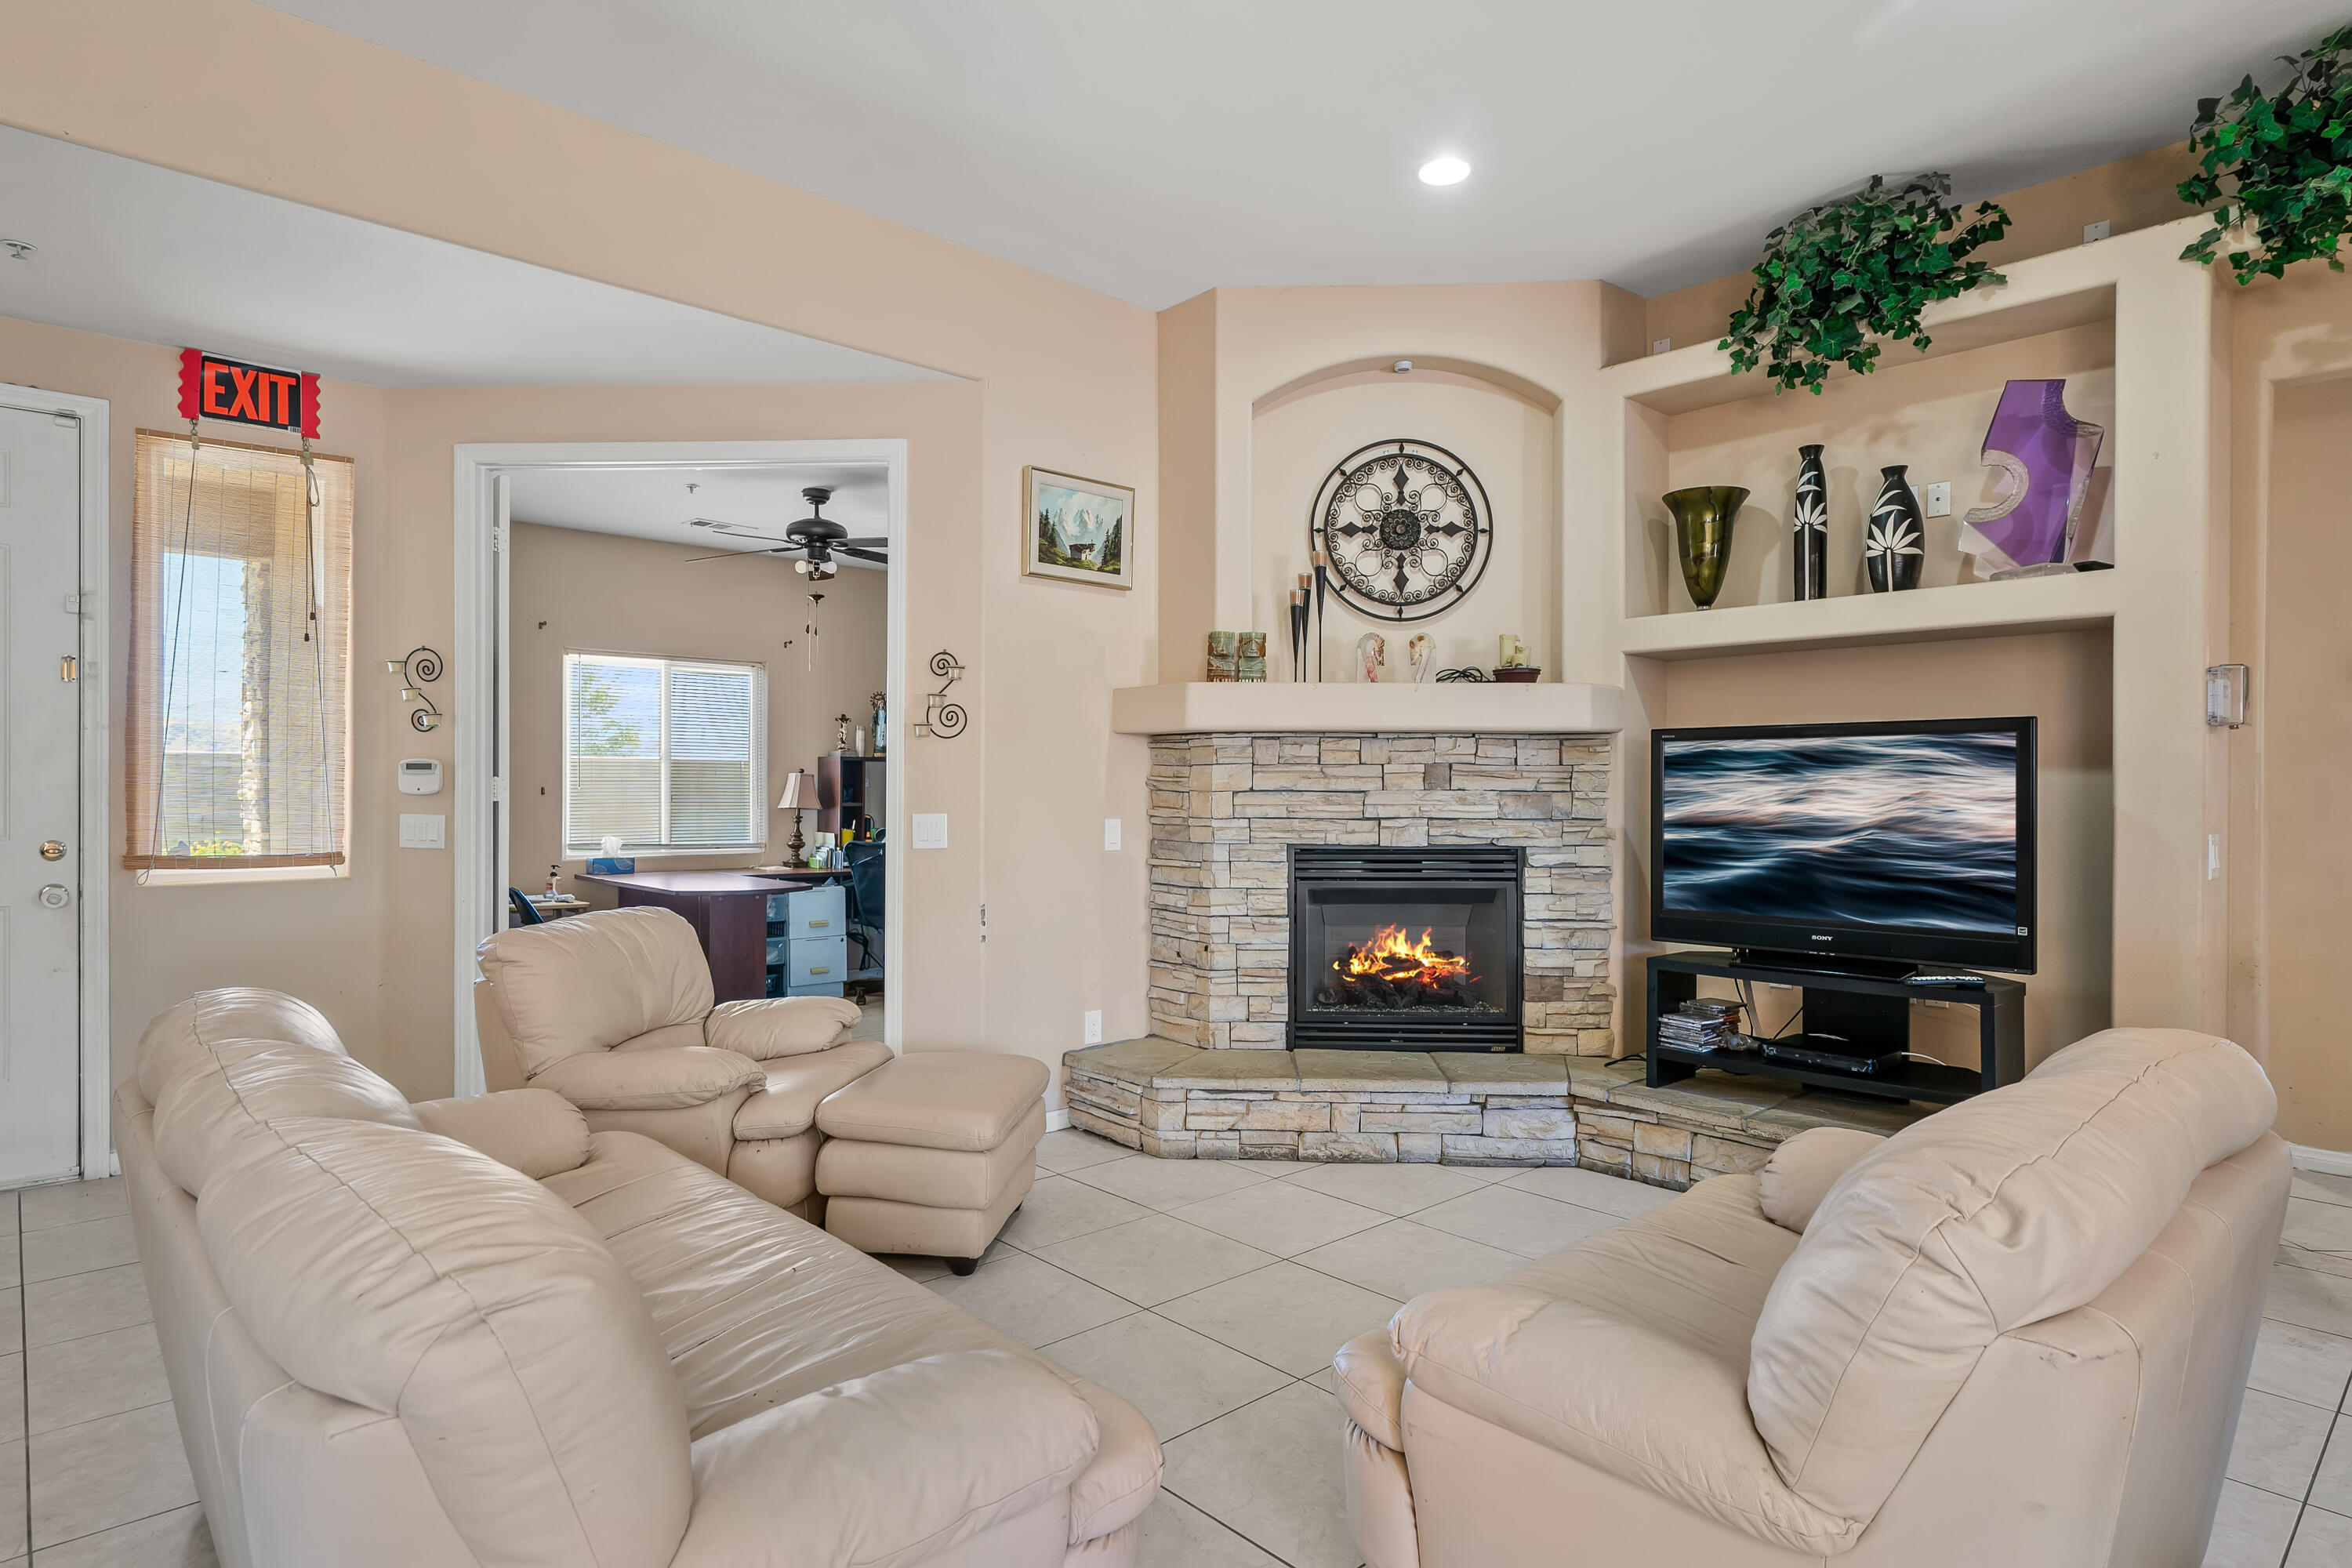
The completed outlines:
[[[1291,1041],[1291,849],[1461,846],[1524,856],[1524,1048],[1611,1053],[1609,736],[1152,736],[1150,790],[1155,1034],[1200,1048],[1378,1044]]]

